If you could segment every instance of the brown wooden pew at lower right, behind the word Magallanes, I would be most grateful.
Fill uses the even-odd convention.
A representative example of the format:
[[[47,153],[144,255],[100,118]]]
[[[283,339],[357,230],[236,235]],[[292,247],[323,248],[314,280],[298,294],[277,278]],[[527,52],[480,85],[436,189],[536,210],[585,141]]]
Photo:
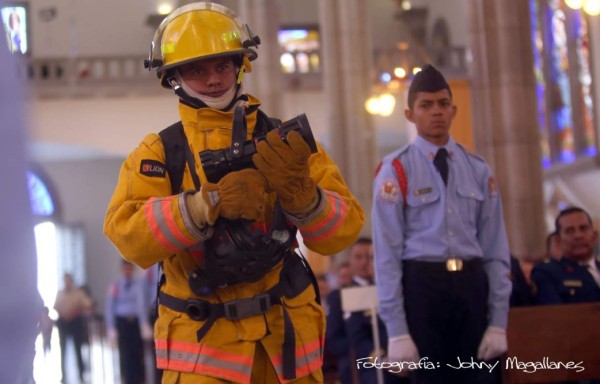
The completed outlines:
[[[600,378],[600,302],[511,308],[507,335],[504,383]]]

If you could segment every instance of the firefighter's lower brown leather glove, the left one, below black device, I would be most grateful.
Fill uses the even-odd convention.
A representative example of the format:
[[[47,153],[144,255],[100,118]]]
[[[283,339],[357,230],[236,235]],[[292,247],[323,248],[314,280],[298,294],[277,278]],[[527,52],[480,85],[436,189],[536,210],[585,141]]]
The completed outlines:
[[[266,181],[256,169],[230,172],[218,183],[205,183],[199,193],[186,196],[191,219],[199,228],[213,225],[219,216],[256,220],[265,210]]]

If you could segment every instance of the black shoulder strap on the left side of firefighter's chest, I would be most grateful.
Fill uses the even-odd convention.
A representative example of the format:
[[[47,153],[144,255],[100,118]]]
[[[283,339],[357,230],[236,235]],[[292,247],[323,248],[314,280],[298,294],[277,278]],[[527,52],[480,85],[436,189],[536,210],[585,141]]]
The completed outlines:
[[[191,155],[191,151],[181,121],[160,131],[159,136],[165,148],[165,167],[169,173],[169,180],[171,180],[171,193],[177,194],[181,192],[186,161],[191,161],[189,164],[190,171],[196,189],[199,189],[200,180],[196,172],[193,171],[196,169],[194,157],[189,156]]]

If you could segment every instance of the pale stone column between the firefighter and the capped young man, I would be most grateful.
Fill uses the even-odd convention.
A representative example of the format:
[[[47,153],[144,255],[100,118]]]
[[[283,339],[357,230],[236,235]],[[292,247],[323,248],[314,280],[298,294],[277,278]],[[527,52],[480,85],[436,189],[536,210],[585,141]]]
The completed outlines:
[[[328,109],[329,152],[365,210],[371,233],[375,134],[364,103],[370,94],[372,49],[367,2],[320,1],[323,85]]]

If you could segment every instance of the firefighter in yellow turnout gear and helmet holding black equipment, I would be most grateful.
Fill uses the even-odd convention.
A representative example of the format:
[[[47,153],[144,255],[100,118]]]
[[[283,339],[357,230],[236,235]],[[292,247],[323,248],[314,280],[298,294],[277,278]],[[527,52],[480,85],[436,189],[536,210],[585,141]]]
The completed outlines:
[[[165,18],[146,61],[180,99],[183,181],[172,191],[166,144],[147,135],[123,163],[104,232],[140,267],[162,262],[154,330],[163,383],[323,380],[325,317],[293,252],[295,231],[330,255],[356,240],[364,213],[320,144],[311,153],[298,132],[265,129],[242,86],[259,42],[229,9],[193,3]],[[252,166],[210,182],[199,153],[232,148],[240,106],[245,139],[265,135]]]

